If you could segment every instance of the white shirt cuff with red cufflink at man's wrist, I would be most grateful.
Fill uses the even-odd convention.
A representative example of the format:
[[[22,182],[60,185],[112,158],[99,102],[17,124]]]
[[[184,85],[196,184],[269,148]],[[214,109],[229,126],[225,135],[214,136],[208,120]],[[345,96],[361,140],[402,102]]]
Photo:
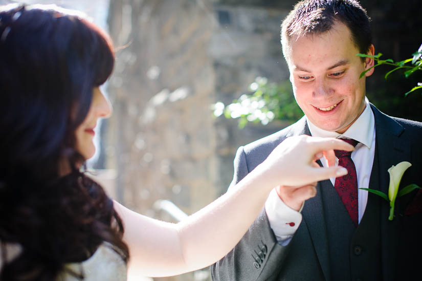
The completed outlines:
[[[293,235],[302,222],[302,207],[299,212],[288,207],[280,199],[275,188],[271,190],[268,199],[265,202],[265,212],[270,222],[277,242],[282,246],[287,246],[292,240]]]

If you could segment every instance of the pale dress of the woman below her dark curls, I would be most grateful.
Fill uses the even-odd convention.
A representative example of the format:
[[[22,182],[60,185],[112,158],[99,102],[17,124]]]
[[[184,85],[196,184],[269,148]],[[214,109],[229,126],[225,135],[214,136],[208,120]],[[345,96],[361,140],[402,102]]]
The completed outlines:
[[[113,245],[104,242],[97,251],[81,263],[66,264],[62,274],[57,281],[76,281],[75,277],[83,274],[85,281],[104,280],[104,281],[126,281],[127,265],[121,256],[114,250]]]

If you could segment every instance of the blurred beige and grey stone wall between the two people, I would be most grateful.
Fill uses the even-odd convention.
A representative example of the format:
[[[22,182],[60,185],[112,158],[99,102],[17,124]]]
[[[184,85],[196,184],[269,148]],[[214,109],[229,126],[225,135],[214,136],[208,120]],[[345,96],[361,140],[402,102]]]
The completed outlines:
[[[107,167],[118,170],[120,200],[156,215],[169,199],[192,213],[223,193],[235,150],[281,125],[215,119],[210,105],[247,92],[256,76],[286,79],[281,9],[204,1],[113,1],[117,48],[108,91]]]

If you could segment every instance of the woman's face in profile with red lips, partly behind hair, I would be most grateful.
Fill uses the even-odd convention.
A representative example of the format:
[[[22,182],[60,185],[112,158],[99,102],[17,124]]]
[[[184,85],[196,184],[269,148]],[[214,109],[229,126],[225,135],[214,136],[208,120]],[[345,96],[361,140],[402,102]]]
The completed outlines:
[[[93,90],[93,98],[90,110],[85,120],[76,128],[76,150],[85,159],[89,159],[95,154],[94,128],[100,118],[107,118],[112,114],[112,107],[109,101],[101,93],[98,87]]]

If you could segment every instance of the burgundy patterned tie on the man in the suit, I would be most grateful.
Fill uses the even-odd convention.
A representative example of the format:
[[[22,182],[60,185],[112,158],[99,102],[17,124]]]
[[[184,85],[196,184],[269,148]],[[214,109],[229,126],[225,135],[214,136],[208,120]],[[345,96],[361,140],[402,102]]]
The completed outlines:
[[[345,142],[356,146],[359,142],[352,139],[342,139]],[[334,188],[341,198],[351,220],[355,226],[358,226],[358,176],[356,175],[356,167],[351,159],[351,152],[344,150],[334,150],[336,157],[339,159],[339,166],[347,169],[347,175],[336,178]]]

